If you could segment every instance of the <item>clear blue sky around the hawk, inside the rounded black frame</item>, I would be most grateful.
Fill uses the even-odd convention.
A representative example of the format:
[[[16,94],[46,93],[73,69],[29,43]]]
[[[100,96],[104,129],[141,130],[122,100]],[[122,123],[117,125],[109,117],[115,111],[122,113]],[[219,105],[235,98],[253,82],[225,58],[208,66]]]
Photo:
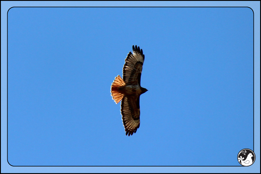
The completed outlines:
[[[250,8],[11,8],[8,162],[240,166],[254,146],[253,27]],[[110,85],[133,44],[148,92],[126,137]]]

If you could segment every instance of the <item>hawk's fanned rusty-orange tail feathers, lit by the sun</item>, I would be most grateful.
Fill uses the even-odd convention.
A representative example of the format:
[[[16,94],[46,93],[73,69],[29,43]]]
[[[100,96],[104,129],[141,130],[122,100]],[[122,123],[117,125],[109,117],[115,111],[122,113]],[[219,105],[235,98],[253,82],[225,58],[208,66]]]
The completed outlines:
[[[111,96],[113,96],[113,99],[116,102],[116,104],[118,104],[124,97],[124,94],[119,92],[118,87],[124,86],[125,84],[126,83],[122,80],[122,77],[118,75],[117,77],[115,77],[115,80],[111,85]]]

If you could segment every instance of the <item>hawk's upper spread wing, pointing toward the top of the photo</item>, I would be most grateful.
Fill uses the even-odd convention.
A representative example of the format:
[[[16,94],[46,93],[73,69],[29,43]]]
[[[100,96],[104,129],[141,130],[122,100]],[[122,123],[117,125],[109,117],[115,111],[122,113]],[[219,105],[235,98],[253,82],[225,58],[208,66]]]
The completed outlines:
[[[140,77],[145,56],[137,45],[132,46],[133,54],[129,52],[123,66],[123,81],[127,85],[140,85]]]

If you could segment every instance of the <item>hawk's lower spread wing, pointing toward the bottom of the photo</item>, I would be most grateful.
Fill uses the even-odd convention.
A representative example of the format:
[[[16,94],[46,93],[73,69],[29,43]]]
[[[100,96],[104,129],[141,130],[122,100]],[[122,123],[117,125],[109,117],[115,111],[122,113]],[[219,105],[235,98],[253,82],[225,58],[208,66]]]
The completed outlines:
[[[140,95],[139,95],[140,96]],[[139,96],[125,96],[121,103],[121,113],[126,135],[136,133],[139,128]]]

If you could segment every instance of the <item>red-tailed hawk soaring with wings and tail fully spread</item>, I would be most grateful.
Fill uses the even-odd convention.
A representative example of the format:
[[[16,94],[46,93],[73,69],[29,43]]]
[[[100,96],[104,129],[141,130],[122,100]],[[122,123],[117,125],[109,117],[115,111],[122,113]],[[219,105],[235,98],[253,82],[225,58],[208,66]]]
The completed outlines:
[[[132,46],[133,54],[129,52],[123,66],[123,79],[121,76],[115,77],[111,85],[111,95],[114,101],[121,104],[122,121],[126,135],[136,133],[139,128],[139,96],[148,91],[140,86],[140,77],[144,62],[142,49],[137,45]]]

